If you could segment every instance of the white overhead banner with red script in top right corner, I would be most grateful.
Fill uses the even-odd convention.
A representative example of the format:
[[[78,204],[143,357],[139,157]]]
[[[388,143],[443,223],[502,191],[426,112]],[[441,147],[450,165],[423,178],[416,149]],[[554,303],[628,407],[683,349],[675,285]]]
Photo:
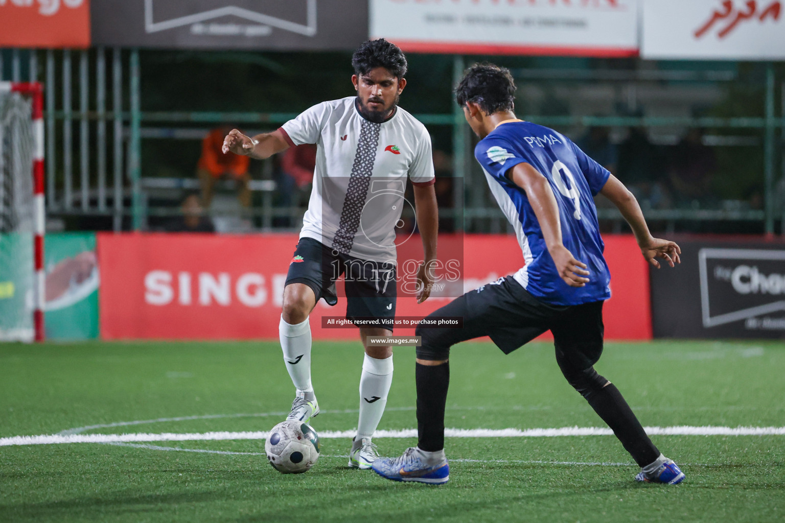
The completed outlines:
[[[652,60],[785,60],[782,0],[645,0],[641,55]]]

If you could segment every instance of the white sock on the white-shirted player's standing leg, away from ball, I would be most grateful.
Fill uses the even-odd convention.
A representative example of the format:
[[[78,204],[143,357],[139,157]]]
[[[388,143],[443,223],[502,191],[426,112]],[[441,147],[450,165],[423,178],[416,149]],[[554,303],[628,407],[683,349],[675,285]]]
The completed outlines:
[[[360,375],[360,419],[357,440],[371,438],[379,426],[392,383],[392,356],[383,360],[365,354]]]

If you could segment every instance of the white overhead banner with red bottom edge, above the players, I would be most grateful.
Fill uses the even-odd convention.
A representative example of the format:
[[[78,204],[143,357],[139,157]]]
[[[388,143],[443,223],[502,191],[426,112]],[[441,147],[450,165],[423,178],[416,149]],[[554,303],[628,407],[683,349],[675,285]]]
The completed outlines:
[[[371,36],[422,53],[636,56],[638,0],[371,0]]]

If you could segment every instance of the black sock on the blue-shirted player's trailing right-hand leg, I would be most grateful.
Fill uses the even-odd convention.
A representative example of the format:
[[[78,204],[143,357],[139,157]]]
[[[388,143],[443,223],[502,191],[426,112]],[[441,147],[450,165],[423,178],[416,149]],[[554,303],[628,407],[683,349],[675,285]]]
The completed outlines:
[[[613,434],[619,438],[627,452],[630,452],[638,466],[645,467],[659,458],[659,450],[648,438],[641,422],[613,383],[586,394],[586,401],[589,401],[594,412],[608,423],[608,427],[611,427]]]

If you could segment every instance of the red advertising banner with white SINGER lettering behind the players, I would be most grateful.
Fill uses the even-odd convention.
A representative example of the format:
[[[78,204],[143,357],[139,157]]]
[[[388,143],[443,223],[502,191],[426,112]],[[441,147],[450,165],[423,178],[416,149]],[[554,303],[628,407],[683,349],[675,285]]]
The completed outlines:
[[[98,234],[100,328],[105,340],[277,339],[283,285],[296,234]],[[512,274],[522,256],[506,235],[463,238],[464,289]],[[652,337],[648,271],[631,236],[608,236],[613,297],[605,307],[608,339]],[[418,305],[399,297],[396,316],[420,317],[451,298]],[[352,339],[354,328],[323,329],[322,317],[343,317],[346,300],[323,300],[311,314],[315,339]],[[413,329],[396,329],[411,334]]]

